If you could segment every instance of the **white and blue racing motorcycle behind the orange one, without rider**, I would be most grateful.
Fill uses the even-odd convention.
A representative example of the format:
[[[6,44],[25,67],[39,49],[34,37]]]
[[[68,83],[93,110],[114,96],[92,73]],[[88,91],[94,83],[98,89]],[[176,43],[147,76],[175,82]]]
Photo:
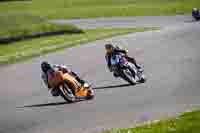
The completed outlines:
[[[111,66],[115,75],[121,77],[130,84],[144,83],[146,81],[143,71],[139,71],[134,64],[127,61],[122,55],[112,56]]]

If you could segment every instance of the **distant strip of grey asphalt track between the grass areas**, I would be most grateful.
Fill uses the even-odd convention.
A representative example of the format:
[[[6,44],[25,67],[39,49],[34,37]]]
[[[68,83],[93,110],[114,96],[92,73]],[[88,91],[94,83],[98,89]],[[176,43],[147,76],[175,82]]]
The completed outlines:
[[[191,16],[145,16],[145,17],[112,17],[96,19],[73,19],[73,20],[50,20],[56,24],[75,24],[83,29],[95,28],[132,28],[132,27],[163,27],[174,24],[184,24],[192,22]]]

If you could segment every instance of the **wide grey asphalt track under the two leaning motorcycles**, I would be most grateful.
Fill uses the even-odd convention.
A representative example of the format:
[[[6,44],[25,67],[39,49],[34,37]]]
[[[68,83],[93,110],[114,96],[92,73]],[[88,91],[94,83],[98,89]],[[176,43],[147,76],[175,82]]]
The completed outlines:
[[[114,79],[105,66],[106,42],[127,47],[144,65],[148,81],[129,86]],[[0,133],[96,133],[198,108],[199,50],[200,24],[175,22],[159,31],[113,37],[2,66]],[[67,64],[80,73],[93,84],[95,99],[67,104],[51,97],[40,79],[42,60]]]

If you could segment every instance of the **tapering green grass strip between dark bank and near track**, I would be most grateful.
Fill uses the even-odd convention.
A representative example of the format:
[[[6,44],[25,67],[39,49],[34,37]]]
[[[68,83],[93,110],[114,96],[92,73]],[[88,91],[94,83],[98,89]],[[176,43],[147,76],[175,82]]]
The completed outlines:
[[[43,37],[16,42],[12,45],[0,45],[0,64],[15,63],[16,61],[115,35],[156,29],[158,28],[95,29],[86,30],[82,34]]]

